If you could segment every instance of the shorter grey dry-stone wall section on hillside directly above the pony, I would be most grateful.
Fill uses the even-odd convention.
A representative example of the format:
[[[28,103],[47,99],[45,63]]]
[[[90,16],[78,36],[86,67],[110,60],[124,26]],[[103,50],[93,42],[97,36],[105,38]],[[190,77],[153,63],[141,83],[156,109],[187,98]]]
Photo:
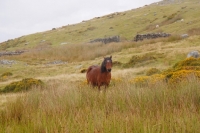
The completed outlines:
[[[104,44],[111,43],[111,42],[120,42],[120,36],[112,36],[107,38],[97,38],[95,40],[91,40],[90,43],[94,42],[102,42]]]

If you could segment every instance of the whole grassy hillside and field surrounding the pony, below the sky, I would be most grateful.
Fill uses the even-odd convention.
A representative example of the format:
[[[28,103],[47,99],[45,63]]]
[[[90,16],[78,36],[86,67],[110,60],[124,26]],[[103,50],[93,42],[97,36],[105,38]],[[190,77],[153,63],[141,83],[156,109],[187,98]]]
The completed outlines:
[[[197,0],[151,4],[1,43],[2,52],[25,52],[0,57],[15,62],[0,64],[0,91],[25,78],[40,79],[45,85],[0,93],[0,132],[198,133],[199,61],[180,71],[174,66],[184,62],[190,51],[200,49],[199,5]],[[152,32],[172,36],[131,41],[137,33]],[[185,33],[189,37],[181,38]],[[88,43],[113,35],[120,35],[122,41]],[[111,84],[99,92],[86,84],[82,71],[110,55]],[[150,76],[151,70],[161,75]],[[190,72],[197,75],[178,75]],[[186,80],[160,80],[177,75]],[[147,77],[151,81],[135,83]]]

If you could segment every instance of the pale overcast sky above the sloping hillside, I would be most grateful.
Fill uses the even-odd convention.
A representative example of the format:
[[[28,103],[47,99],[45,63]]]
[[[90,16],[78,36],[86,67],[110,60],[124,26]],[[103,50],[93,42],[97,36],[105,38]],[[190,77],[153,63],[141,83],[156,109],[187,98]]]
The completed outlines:
[[[0,0],[0,42],[160,0]]]

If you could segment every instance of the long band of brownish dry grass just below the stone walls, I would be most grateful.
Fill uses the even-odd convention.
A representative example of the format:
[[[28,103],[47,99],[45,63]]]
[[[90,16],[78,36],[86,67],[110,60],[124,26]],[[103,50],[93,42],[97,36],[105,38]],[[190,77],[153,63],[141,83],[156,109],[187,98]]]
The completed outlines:
[[[119,42],[119,43],[88,43],[88,44],[69,44],[53,47],[50,45],[42,45],[35,49],[31,49],[19,56],[7,56],[6,59],[25,61],[28,64],[41,64],[54,60],[62,60],[67,62],[79,62],[83,60],[92,60],[98,57],[111,55],[120,52],[123,49],[135,48],[146,44],[157,42],[174,42],[181,38],[172,35],[167,38],[149,39],[139,42]]]

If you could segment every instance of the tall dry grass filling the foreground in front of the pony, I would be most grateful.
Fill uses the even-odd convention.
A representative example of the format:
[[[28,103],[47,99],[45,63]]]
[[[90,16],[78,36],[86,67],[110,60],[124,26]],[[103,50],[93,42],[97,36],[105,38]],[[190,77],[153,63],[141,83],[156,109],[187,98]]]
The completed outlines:
[[[51,81],[0,111],[0,132],[199,132],[199,81],[136,88],[127,79],[106,92]]]

